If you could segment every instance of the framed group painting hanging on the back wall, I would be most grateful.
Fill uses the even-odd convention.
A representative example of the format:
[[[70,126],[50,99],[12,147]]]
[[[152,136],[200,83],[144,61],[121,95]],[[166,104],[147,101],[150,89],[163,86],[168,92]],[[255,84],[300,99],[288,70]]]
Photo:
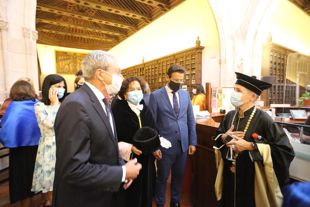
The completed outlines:
[[[88,53],[55,50],[55,73],[74,75],[82,70],[81,63]]]

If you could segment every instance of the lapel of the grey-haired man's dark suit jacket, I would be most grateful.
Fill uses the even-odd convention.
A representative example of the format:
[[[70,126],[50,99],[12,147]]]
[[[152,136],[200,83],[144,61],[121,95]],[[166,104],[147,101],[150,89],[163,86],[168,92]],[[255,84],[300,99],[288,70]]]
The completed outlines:
[[[112,132],[112,128],[109,122],[109,119],[107,117],[107,115],[105,115],[105,112],[102,108],[102,105],[100,104],[98,98],[96,97],[95,93],[91,90],[91,88],[89,88],[89,86],[87,86],[87,84],[83,84],[83,86],[81,87],[84,90],[86,90],[86,92],[88,93],[88,95],[91,97],[91,101],[93,101],[93,106],[95,107],[95,110],[98,112],[98,114],[100,115],[104,125],[106,126],[106,128],[108,129],[108,132],[110,134],[110,138],[113,142],[113,144],[115,145],[115,147],[117,148],[117,143],[116,143],[116,138],[113,135]],[[114,124],[114,122],[113,122]],[[114,126],[114,125],[113,125]],[[114,126],[115,128],[115,126]]]

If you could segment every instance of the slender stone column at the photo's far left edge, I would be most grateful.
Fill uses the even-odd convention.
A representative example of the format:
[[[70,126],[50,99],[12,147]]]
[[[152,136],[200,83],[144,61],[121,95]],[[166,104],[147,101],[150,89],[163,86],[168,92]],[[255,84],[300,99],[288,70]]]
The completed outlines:
[[[9,29],[9,23],[4,20],[0,20],[0,31],[1,31],[1,49],[2,49],[2,70],[0,71],[0,91],[10,90],[10,71],[8,64],[8,45],[7,45],[7,31]],[[1,98],[3,98],[1,96]]]

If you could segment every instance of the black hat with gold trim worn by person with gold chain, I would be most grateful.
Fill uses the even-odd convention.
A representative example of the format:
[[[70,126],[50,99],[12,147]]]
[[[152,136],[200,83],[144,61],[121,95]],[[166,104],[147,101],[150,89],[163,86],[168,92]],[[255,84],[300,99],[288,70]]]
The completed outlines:
[[[248,76],[235,72],[237,75],[236,84],[239,84],[260,96],[263,90],[272,87],[272,84],[256,79],[256,76]]]

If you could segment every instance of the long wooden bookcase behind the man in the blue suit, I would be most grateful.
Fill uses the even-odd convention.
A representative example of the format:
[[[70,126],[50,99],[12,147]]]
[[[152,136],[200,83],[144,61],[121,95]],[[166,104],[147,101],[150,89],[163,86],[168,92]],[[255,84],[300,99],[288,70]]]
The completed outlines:
[[[197,45],[152,61],[134,65],[122,70],[124,78],[137,75],[148,82],[151,92],[166,84],[166,73],[172,65],[182,65],[185,69],[183,85],[193,98],[193,85],[201,83],[201,55],[204,47]]]

